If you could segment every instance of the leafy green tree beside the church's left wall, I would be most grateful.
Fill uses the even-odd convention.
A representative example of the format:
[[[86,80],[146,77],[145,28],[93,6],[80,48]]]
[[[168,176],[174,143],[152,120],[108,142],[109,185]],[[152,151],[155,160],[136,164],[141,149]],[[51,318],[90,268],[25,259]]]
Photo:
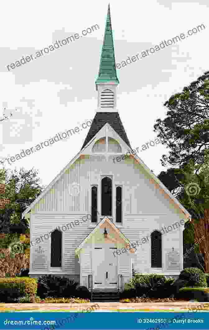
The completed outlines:
[[[21,219],[21,215],[44,189],[39,184],[37,175],[38,171],[34,168],[1,170],[0,181],[5,182],[5,192],[0,194],[0,199],[7,199],[9,202],[0,210],[0,232],[25,233],[28,222]]]

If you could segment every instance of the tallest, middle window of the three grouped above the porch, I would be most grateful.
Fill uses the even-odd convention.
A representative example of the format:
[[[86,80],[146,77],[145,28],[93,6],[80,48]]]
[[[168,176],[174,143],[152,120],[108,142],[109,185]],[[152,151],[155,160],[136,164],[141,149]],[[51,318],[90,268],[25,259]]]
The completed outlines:
[[[102,179],[102,215],[112,215],[112,180]]]

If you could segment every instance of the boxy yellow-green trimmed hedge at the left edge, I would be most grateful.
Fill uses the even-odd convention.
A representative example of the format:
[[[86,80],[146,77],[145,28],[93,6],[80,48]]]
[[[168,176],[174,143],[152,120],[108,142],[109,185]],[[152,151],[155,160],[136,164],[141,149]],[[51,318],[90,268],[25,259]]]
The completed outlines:
[[[9,302],[25,295],[36,295],[37,282],[28,277],[0,279],[0,301]]]

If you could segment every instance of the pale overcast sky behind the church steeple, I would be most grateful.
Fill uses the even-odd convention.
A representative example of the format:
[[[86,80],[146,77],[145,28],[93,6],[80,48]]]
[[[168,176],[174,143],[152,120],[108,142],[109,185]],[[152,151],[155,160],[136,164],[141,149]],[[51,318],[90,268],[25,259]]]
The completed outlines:
[[[44,142],[93,119],[97,109],[95,80],[108,2],[106,1],[17,1],[1,3],[0,118],[6,107],[13,116],[0,121],[0,156]],[[133,148],[156,138],[153,125],[163,119],[163,103],[209,70],[208,0],[110,2],[115,60],[159,45],[204,24],[205,29],[158,52],[117,69],[119,79],[117,109]],[[11,69],[7,65],[35,54],[56,39],[98,24],[100,29],[49,54]],[[17,109],[17,111],[15,111]],[[40,171],[41,183],[48,185],[79,152],[88,128],[16,160],[6,168],[32,167]],[[139,152],[139,157],[158,175],[166,171],[160,158],[162,145]]]

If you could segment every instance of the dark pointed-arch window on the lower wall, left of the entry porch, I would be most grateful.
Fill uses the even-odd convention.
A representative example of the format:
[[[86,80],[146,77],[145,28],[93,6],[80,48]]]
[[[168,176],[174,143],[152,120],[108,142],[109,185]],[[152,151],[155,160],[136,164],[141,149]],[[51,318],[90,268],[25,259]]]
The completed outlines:
[[[51,235],[51,267],[62,266],[62,233],[55,229]]]

